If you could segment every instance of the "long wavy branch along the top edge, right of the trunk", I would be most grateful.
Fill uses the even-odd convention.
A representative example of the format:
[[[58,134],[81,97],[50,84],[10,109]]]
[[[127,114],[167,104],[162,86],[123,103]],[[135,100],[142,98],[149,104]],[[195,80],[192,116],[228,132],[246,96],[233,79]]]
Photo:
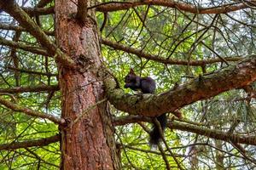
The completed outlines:
[[[141,5],[157,5],[162,7],[177,8],[179,10],[183,10],[193,14],[226,14],[232,11],[248,8],[247,4],[245,3],[230,3],[218,7],[202,8],[196,7],[189,3],[181,3],[173,0],[143,0],[125,3],[103,3],[102,5],[97,5],[96,10],[100,12],[111,12],[135,8]]]

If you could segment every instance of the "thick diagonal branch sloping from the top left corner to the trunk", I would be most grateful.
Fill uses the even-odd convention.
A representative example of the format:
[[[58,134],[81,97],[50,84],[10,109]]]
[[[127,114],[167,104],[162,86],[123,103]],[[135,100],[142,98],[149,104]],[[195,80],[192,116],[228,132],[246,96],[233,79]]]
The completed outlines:
[[[49,51],[49,54],[56,56],[56,59],[63,65],[73,67],[75,65],[73,59],[70,59],[66,54],[61,52],[61,49],[57,48],[54,42],[51,42],[44,31],[35,24],[35,22],[29,17],[24,10],[22,10],[14,0],[0,0],[0,7],[5,12],[12,15],[15,20],[20,23],[20,26],[26,28],[32,36],[38,39],[38,42],[42,44],[44,48]]]

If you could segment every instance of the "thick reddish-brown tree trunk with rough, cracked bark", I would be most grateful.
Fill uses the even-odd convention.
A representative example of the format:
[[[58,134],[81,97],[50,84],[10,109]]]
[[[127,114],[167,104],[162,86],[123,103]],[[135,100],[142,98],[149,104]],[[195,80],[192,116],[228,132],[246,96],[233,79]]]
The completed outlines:
[[[67,69],[59,64],[61,116],[69,125],[73,124],[61,131],[61,169],[119,169],[107,102],[73,123],[104,97],[102,81],[97,77],[102,63],[95,22],[91,18],[85,24],[79,22],[75,19],[76,12],[73,2],[55,1],[56,40],[78,68]]]

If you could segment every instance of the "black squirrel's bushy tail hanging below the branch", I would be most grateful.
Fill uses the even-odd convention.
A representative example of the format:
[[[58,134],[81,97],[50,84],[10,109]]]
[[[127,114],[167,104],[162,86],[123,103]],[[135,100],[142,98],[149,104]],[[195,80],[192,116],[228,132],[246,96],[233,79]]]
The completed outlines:
[[[167,123],[167,117],[166,114],[163,114],[161,116],[156,117],[157,121],[160,122],[160,127],[164,131],[166,128],[166,123]],[[150,145],[157,145],[160,142],[161,136],[160,136],[160,129],[156,126],[156,124],[153,124],[153,129],[149,133],[150,139],[149,139],[149,144]]]

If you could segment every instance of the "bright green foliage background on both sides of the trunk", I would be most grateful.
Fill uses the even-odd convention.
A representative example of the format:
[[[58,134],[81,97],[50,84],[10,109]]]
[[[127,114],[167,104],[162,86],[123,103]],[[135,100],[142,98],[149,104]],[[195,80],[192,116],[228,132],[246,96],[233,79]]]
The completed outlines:
[[[100,2],[109,3],[110,1]],[[29,3],[35,6],[38,0],[31,0]],[[187,1],[187,3],[199,5],[194,1]],[[203,1],[199,7],[213,7],[226,3],[230,1]],[[49,3],[46,7],[53,5],[54,3]],[[127,48],[136,48],[145,54],[159,56],[161,59],[184,62],[220,59],[221,62],[197,66],[189,63],[169,65],[109,48],[104,44],[101,47],[102,60],[117,77],[121,88],[125,84],[125,75],[130,68],[134,68],[137,75],[154,78],[157,82],[157,94],[160,94],[174,88],[175,83],[182,85],[183,82],[193,81],[195,77],[211,74],[226,67],[224,60],[228,57],[254,54],[256,49],[254,43],[256,15],[254,13],[255,10],[247,8],[229,14],[191,14],[178,8],[156,5],[142,5],[109,12],[107,24],[100,35],[103,38],[119,42]],[[13,23],[11,18],[6,16],[3,20],[9,24]],[[44,31],[54,31],[53,14],[42,15],[39,20]],[[96,20],[100,28],[104,20],[101,12],[96,13]],[[1,37],[6,39],[10,40],[14,36],[14,31],[1,31]],[[50,38],[55,41],[54,37]],[[41,47],[38,41],[26,31],[21,32],[19,40],[33,47]],[[15,57],[11,55],[11,50],[12,48],[1,48],[1,89],[58,84],[56,77],[58,71],[54,59],[17,49],[16,60],[19,63],[18,67],[22,70],[17,73],[9,69],[9,66],[15,65]],[[228,64],[231,65],[234,62],[228,61]],[[28,71],[37,71],[38,74]],[[44,76],[39,74],[40,72],[48,72],[52,76]],[[255,91],[256,83],[254,82],[251,86]],[[124,90],[126,93],[136,94],[130,89]],[[61,116],[60,92],[0,95],[32,110]],[[212,99],[186,105],[180,111],[183,114],[183,121],[196,124],[198,127],[227,132],[238,120],[239,124],[234,133],[255,135],[255,109],[255,98],[250,98],[243,89],[234,89]],[[127,116],[127,113],[114,108],[111,110],[113,116]],[[3,105],[0,105],[0,113],[0,144],[44,139],[59,133],[54,123],[10,111]],[[172,120],[172,113],[169,116]],[[177,119],[174,121],[179,122]],[[143,122],[116,127],[115,138],[121,148],[122,169],[166,169],[166,161],[160,150],[151,150],[148,146],[147,130],[150,128],[151,124]],[[239,169],[245,167],[253,169],[254,166],[255,161],[248,161],[247,157],[243,157],[241,151],[232,144],[189,133],[189,130],[184,132],[167,128],[165,139],[167,146],[163,143],[161,146],[172,169],[177,169],[177,162],[172,153],[175,154],[180,165],[187,169],[193,169],[190,164],[193,158],[198,161],[197,168],[194,169],[217,169],[216,165],[219,162],[217,163],[216,160],[219,158],[224,160],[223,169],[237,169],[236,167],[239,166]],[[247,156],[255,157],[253,146],[242,144],[242,147],[247,149]],[[223,155],[218,156],[218,152]],[[59,143],[43,147],[1,150],[0,153],[0,169],[37,169],[39,167],[40,169],[58,169],[61,160]]]

